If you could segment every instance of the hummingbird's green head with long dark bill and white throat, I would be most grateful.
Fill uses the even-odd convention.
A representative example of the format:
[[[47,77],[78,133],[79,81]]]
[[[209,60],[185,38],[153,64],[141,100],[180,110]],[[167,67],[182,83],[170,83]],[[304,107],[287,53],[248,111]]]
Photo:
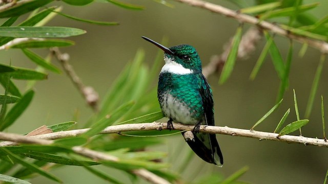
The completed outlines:
[[[176,74],[201,73],[200,58],[196,49],[191,45],[180,44],[167,48],[147,37],[142,36],[142,38],[165,52],[164,60],[167,66],[162,68],[162,72],[164,70]]]

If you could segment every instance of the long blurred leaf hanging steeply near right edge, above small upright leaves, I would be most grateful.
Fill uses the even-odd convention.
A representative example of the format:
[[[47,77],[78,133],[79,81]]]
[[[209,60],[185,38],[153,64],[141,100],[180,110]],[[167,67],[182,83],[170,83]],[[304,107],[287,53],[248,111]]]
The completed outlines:
[[[313,79],[313,83],[312,83],[311,91],[310,91],[310,96],[309,96],[309,101],[308,101],[308,104],[306,105],[306,110],[305,110],[304,118],[306,118],[306,119],[309,119],[310,115],[311,115],[314,98],[316,96],[317,89],[318,89],[318,86],[319,86],[319,80],[320,80],[321,73],[322,73],[323,63],[325,61],[325,56],[326,56],[325,54],[321,54],[319,65],[317,67],[317,71],[316,71],[315,77]]]

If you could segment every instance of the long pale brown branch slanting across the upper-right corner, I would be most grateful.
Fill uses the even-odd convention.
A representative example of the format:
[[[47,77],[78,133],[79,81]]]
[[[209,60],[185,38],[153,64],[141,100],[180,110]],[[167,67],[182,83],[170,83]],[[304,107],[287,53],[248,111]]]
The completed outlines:
[[[259,20],[256,17],[250,16],[247,14],[242,14],[242,13],[239,13],[238,11],[234,11],[234,10],[222,7],[220,5],[216,5],[213,3],[208,3],[208,2],[204,2],[204,1],[200,1],[200,0],[175,0],[175,1],[180,2],[180,3],[185,3],[190,6],[203,8],[203,9],[206,9],[211,12],[218,13],[218,14],[221,14],[221,15],[224,15],[227,17],[231,17],[231,18],[238,20],[239,22],[256,25],[256,26],[260,27],[261,29],[272,31],[275,34],[294,39],[301,43],[308,43],[311,47],[321,51],[322,53],[328,53],[328,43],[327,42],[297,35],[293,32],[290,32],[289,30],[280,28],[278,25],[272,24],[271,22]]]

